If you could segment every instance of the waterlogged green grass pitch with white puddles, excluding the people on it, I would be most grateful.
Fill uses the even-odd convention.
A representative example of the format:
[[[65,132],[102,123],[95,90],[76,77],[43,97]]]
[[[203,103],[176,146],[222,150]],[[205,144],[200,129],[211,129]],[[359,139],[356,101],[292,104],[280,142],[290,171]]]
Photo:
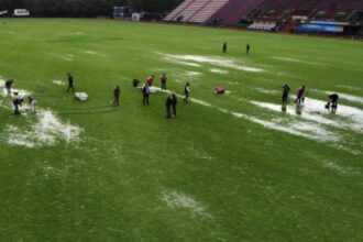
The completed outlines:
[[[1,241],[363,240],[362,42],[3,21],[0,85],[13,78],[38,110],[26,102],[14,117],[1,91]],[[87,102],[66,92],[68,72]],[[154,74],[160,86],[164,72],[170,91],[191,85],[193,100],[179,98],[172,120],[166,94],[146,107],[131,85]],[[213,95],[218,84],[224,96]],[[117,85],[119,108],[110,105]],[[331,91],[341,97],[336,114],[323,108]]]

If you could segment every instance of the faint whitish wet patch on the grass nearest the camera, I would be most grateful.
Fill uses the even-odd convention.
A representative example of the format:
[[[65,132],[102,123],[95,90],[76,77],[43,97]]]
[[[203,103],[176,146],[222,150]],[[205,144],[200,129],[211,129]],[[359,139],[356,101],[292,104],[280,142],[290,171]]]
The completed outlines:
[[[177,191],[162,194],[161,199],[166,204],[167,207],[173,209],[187,209],[193,215],[200,216],[202,218],[212,218],[210,213],[207,212],[206,208],[201,205],[201,202],[196,201],[191,197],[180,194]]]

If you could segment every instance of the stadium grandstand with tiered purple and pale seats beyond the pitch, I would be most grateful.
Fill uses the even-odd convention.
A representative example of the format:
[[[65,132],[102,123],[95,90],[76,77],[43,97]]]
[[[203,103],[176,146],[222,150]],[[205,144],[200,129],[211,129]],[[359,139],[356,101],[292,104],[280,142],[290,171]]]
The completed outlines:
[[[363,35],[362,0],[185,0],[164,21]]]

